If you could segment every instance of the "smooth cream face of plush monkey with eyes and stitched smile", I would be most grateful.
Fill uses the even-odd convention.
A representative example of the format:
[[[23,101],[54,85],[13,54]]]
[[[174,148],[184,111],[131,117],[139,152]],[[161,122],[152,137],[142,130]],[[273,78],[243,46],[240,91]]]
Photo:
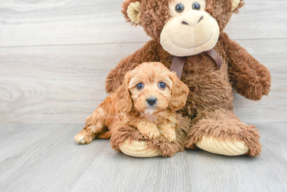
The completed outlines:
[[[189,56],[212,49],[219,37],[216,20],[205,11],[205,0],[168,3],[170,18],[160,33],[163,49],[175,56]]]

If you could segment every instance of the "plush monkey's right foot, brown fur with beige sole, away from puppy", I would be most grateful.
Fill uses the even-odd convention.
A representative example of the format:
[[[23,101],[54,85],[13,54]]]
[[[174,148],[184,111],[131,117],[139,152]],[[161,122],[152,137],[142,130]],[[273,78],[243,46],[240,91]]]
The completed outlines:
[[[231,115],[229,114],[229,116]],[[198,120],[192,126],[187,135],[185,147],[189,149],[198,147],[211,153],[229,156],[248,154],[254,157],[260,155],[262,145],[259,142],[259,132],[254,129],[256,126],[247,125],[230,117],[224,119],[223,116],[219,120],[208,118],[209,116],[206,115],[205,119]]]

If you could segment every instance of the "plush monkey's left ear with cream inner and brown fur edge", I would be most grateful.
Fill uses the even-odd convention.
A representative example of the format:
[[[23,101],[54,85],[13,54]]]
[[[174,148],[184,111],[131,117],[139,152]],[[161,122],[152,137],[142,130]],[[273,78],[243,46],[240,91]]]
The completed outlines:
[[[124,14],[124,18],[127,19],[127,22],[131,22],[132,25],[140,24],[140,0],[126,0],[122,4],[122,13]]]

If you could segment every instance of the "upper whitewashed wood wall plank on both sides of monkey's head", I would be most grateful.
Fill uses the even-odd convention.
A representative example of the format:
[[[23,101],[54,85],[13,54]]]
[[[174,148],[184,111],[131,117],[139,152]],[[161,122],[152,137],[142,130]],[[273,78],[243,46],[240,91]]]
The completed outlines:
[[[124,0],[1,0],[0,46],[144,42],[141,27],[125,23]],[[249,0],[225,31],[233,39],[286,38],[287,2]]]

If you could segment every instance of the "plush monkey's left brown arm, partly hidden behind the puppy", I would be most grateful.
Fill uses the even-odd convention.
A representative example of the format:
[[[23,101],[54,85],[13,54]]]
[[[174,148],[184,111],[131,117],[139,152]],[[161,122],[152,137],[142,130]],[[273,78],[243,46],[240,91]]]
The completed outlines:
[[[141,49],[136,50],[132,55],[122,59],[119,64],[108,73],[105,81],[106,92],[110,94],[115,91],[115,89],[122,84],[127,71],[134,69],[141,63],[156,61],[159,61],[157,43],[155,40],[150,40]]]

